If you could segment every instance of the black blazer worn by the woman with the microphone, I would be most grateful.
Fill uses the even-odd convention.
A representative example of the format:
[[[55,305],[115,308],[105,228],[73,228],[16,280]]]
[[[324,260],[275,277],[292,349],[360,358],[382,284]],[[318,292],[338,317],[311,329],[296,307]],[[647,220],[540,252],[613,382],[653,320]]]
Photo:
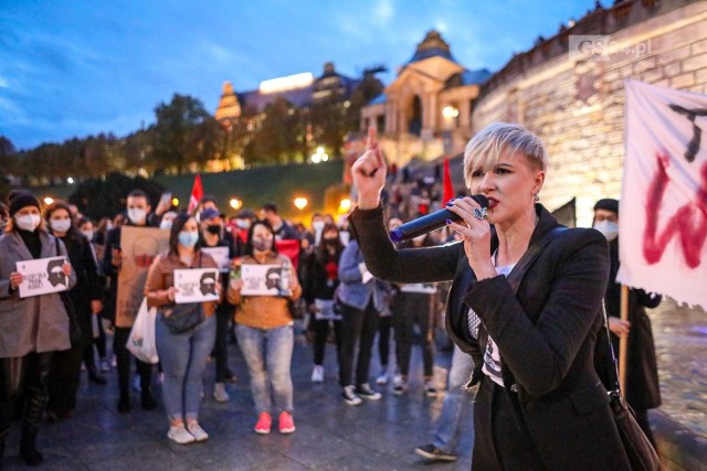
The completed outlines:
[[[530,244],[559,226],[541,205]],[[462,243],[395,250],[382,210],[355,211],[366,266],[393,282],[453,280],[447,331],[474,356],[478,381],[487,335],[498,345],[505,393],[548,470],[629,470],[606,389],[593,364],[603,329],[602,298],[609,275],[606,239],[594,229],[556,235],[519,282],[504,276],[476,281]],[[497,240],[493,237],[492,250]],[[509,276],[513,278],[513,272]],[[468,333],[468,308],[482,318],[478,339]],[[492,433],[489,421],[475,420]]]

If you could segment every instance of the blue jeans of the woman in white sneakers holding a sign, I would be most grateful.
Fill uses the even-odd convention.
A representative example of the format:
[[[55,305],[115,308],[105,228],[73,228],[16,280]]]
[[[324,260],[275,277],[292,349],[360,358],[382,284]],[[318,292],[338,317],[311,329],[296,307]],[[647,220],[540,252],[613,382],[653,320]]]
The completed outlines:
[[[175,335],[162,314],[155,322],[157,353],[165,373],[162,400],[170,420],[199,418],[203,383],[201,376],[217,335],[217,317],[207,318],[191,332]]]

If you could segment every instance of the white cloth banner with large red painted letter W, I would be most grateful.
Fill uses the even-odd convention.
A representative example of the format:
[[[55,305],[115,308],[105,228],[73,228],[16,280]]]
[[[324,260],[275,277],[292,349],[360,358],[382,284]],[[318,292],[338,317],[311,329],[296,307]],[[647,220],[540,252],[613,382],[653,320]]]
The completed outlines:
[[[707,309],[707,96],[625,88],[618,279]]]

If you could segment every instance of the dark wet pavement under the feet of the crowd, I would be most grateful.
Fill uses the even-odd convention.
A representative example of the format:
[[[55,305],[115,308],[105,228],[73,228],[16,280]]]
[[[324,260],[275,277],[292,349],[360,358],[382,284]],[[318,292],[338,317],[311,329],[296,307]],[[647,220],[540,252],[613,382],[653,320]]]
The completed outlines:
[[[431,428],[439,416],[442,396],[425,398],[419,349],[413,349],[411,390],[392,394],[389,385],[382,400],[359,407],[344,404],[335,377],[335,352],[327,350],[326,382],[313,385],[312,347],[297,341],[293,358],[295,422],[297,430],[282,436],[274,428],[268,436],[253,432],[255,413],[247,385],[247,371],[236,345],[231,344],[231,368],[238,383],[228,385],[231,402],[211,398],[213,364],[205,377],[201,409],[203,428],[211,438],[202,443],[179,446],[166,437],[163,409],[144,411],[139,394],[133,395],[130,414],[116,411],[116,373],[107,374],[107,386],[88,385],[85,376],[78,407],[64,422],[43,425],[39,446],[48,470],[468,470],[471,468],[471,415],[465,420],[455,463],[425,463],[414,448],[431,441]],[[440,353],[435,375],[444,384],[450,353]],[[373,360],[378,365],[378,360]],[[444,367],[444,368],[443,368]],[[371,367],[371,374],[378,372]],[[160,388],[156,387],[156,393]],[[471,400],[471,397],[469,397]],[[19,424],[8,438],[3,469],[25,469],[18,456]]]

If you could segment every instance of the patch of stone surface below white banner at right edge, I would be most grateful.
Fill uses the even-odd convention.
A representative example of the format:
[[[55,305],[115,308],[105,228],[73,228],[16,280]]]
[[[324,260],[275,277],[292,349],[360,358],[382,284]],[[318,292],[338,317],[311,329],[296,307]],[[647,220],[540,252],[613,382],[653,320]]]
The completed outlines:
[[[661,410],[707,437],[707,313],[666,299],[648,315],[658,361]]]

